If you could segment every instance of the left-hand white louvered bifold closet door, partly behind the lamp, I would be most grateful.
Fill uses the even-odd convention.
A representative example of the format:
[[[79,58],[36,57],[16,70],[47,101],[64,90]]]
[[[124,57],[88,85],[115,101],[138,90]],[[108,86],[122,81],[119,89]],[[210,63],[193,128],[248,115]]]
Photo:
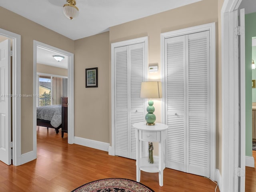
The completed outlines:
[[[144,121],[144,43],[115,48],[115,154],[136,159],[133,124]]]

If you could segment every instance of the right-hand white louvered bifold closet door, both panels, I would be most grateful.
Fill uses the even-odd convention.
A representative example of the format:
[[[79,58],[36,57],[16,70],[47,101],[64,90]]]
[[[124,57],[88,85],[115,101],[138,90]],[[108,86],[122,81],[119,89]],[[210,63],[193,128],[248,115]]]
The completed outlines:
[[[174,39],[183,38],[183,49]],[[173,40],[171,40],[173,39]],[[182,41],[182,40],[181,40]],[[210,176],[209,31],[169,38],[167,42],[167,166]],[[168,46],[168,42],[169,46]],[[181,42],[180,42],[181,44]],[[173,49],[173,50],[172,50]],[[180,50],[180,53],[178,53]],[[183,52],[183,60],[181,52]],[[179,58],[179,59],[178,59]],[[183,62],[183,75],[181,63]],[[180,68],[177,72],[176,70]],[[180,74],[180,75],[179,75]],[[178,76],[179,75],[179,76]],[[183,77],[183,79],[182,79]],[[168,79],[169,78],[169,79]],[[184,80],[182,85],[178,80]],[[183,96],[182,90],[183,89]],[[182,104],[182,100],[184,103]],[[184,109],[182,114],[179,109]],[[170,114],[170,115],[169,115]],[[183,116],[184,115],[184,116]],[[184,129],[182,126],[184,125]],[[184,131],[184,132],[183,132]],[[182,136],[183,142],[182,142]],[[169,146],[170,143],[170,146]],[[182,162],[183,160],[183,162]],[[183,164],[182,164],[183,163]]]

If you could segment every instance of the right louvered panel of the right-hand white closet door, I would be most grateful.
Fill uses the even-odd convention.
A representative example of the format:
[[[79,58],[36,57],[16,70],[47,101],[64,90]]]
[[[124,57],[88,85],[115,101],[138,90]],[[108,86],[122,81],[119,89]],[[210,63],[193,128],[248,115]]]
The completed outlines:
[[[209,31],[187,36],[187,172],[210,177]]]

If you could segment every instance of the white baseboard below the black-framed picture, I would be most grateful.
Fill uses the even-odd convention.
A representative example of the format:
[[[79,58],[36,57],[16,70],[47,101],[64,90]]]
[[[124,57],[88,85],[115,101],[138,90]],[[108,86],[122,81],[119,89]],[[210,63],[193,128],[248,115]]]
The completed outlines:
[[[109,151],[109,143],[101,142],[101,141],[95,141],[90,139],[85,139],[81,137],[74,137],[74,144],[102,150],[102,151]]]

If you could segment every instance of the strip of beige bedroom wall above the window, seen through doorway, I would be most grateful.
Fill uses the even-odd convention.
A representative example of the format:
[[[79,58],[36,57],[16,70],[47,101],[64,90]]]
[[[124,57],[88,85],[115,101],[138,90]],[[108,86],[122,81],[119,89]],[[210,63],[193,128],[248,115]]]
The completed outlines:
[[[36,71],[38,73],[68,76],[68,69],[54,67],[54,66],[50,66],[50,65],[39,64],[39,63],[36,65]]]

